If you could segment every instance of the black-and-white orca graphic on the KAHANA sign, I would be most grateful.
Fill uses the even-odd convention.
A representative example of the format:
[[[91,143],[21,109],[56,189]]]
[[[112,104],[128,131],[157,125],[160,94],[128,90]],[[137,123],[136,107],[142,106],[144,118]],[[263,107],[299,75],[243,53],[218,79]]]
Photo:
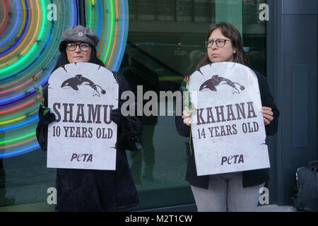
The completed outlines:
[[[240,85],[239,83],[232,82],[232,81],[230,81],[230,79],[223,78],[223,77],[220,77],[218,75],[212,76],[212,78],[210,78],[207,81],[205,81],[204,83],[202,83],[202,85],[200,85],[199,90],[202,91],[204,89],[209,89],[212,91],[217,91],[216,90],[217,85],[230,85],[230,87],[233,88],[232,94],[240,93],[240,91],[236,88],[235,85],[239,85],[240,90],[245,90],[245,87],[243,85]]]

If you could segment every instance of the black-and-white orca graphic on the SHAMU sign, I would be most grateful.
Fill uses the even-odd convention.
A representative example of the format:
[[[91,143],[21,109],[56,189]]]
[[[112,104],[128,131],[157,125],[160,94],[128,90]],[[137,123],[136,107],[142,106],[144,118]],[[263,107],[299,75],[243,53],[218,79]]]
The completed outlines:
[[[85,78],[82,75],[76,75],[73,78],[67,79],[61,84],[61,88],[72,88],[73,90],[78,90],[78,85],[90,85],[90,87],[94,90],[93,96],[97,95],[100,97],[100,93],[97,89],[98,87],[102,90],[102,94],[106,93],[106,91],[102,89],[100,85],[93,83],[93,81],[90,81],[88,78]]]

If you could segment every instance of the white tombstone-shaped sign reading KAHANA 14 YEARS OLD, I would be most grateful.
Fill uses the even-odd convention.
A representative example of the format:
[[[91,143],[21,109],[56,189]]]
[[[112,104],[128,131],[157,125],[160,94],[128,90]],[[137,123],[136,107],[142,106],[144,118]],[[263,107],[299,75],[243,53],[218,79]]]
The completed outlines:
[[[220,62],[190,77],[196,108],[192,138],[198,176],[268,168],[257,76],[247,66]]]

